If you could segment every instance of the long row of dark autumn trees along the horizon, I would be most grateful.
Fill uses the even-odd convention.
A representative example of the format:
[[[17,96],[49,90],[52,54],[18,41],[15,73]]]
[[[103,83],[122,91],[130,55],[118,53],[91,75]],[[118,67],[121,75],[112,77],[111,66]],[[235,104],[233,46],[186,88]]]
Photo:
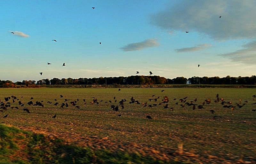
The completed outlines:
[[[0,87],[15,87],[15,85],[26,85],[35,87],[36,85],[105,85],[105,84],[121,84],[121,85],[154,85],[154,84],[238,84],[238,85],[255,85],[256,76],[251,77],[176,77],[173,79],[166,79],[160,76],[128,76],[128,77],[99,77],[99,78],[53,78],[42,79],[39,81],[35,80],[23,80],[22,82],[12,82],[10,80],[1,81]]]

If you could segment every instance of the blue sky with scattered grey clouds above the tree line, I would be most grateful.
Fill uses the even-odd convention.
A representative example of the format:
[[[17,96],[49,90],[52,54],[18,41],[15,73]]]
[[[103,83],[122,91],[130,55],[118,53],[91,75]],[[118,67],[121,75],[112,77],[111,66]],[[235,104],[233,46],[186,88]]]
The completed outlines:
[[[255,75],[255,0],[4,0],[0,9],[1,80]]]

